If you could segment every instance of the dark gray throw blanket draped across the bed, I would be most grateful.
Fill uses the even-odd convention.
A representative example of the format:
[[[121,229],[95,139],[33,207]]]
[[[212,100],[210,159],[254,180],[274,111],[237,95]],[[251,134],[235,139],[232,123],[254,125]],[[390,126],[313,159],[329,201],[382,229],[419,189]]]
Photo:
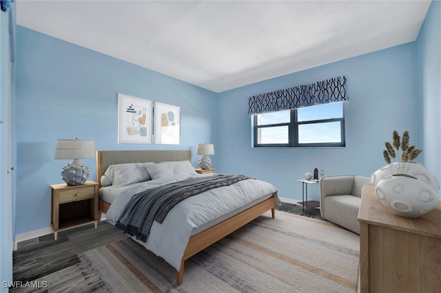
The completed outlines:
[[[147,189],[130,199],[115,226],[145,242],[153,221],[162,223],[167,213],[187,197],[247,179],[251,178],[243,175],[214,174]]]

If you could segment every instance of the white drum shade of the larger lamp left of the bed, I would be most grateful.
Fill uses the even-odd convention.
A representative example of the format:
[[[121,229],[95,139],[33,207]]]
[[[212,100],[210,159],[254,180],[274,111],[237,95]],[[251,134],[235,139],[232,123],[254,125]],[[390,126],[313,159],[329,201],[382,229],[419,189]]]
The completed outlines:
[[[93,140],[57,140],[55,159],[93,159],[96,158]]]

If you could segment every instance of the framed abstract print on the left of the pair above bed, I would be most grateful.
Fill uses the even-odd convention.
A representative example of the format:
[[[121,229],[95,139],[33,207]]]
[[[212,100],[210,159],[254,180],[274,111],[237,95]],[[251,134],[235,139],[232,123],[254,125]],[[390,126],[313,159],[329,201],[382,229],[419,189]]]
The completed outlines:
[[[152,101],[118,94],[118,143],[152,143]]]

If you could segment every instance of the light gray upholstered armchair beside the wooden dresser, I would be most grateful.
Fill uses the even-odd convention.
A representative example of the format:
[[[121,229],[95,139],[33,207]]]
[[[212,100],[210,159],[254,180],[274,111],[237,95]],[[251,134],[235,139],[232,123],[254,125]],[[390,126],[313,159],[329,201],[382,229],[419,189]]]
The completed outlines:
[[[364,176],[327,176],[320,180],[320,213],[324,219],[360,234],[358,210],[362,187],[370,184]]]

